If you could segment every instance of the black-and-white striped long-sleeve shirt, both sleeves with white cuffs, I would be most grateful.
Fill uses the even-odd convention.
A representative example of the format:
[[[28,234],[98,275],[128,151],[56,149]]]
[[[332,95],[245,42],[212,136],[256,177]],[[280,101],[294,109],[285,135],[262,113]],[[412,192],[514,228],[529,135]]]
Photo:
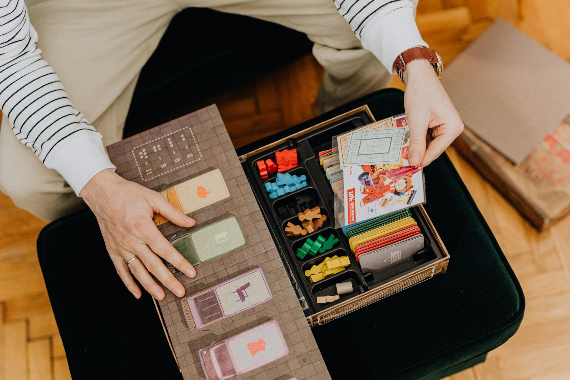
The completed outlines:
[[[410,0],[333,0],[333,4],[363,46],[392,72],[400,52],[426,45]],[[79,195],[98,172],[115,167],[101,135],[72,106],[37,42],[24,1],[0,0],[0,109],[16,138]]]

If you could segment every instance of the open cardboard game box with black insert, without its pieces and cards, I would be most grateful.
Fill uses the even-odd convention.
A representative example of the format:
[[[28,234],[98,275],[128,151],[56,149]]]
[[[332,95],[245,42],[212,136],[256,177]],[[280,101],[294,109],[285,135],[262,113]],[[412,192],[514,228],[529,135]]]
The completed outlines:
[[[286,268],[291,268],[291,281],[298,292],[298,297],[304,299],[304,314],[311,327],[322,325],[344,314],[359,309],[390,294],[415,285],[418,282],[431,278],[434,274],[445,272],[449,262],[449,253],[441,241],[437,231],[431,223],[425,208],[422,205],[411,209],[414,219],[425,236],[425,249],[413,255],[410,260],[400,262],[386,270],[380,276],[373,277],[370,273],[361,273],[356,264],[354,254],[348,246],[348,241],[340,229],[334,229],[334,198],[328,180],[323,169],[319,165],[318,152],[331,148],[332,137],[366,124],[375,122],[368,106],[362,106],[323,123],[295,132],[290,136],[264,145],[239,157],[243,169],[250,181],[251,188],[260,205],[260,209],[267,221],[267,226],[272,232],[276,246],[282,253],[282,259]],[[308,186],[296,192],[288,193],[278,199],[270,199],[264,190],[267,181],[275,180],[275,175],[262,179],[259,176],[257,165],[259,160],[275,156],[276,151],[287,148],[296,148],[298,155],[298,167],[291,169],[293,174],[305,174],[308,178]],[[321,213],[328,216],[323,227],[313,233],[304,236],[291,237],[284,232],[288,221],[296,219],[296,215],[280,215],[279,206],[294,199],[296,195],[308,195],[311,201],[308,207],[319,207]],[[328,236],[335,233],[339,237],[339,244],[325,253],[318,253],[311,259],[299,260],[295,257],[295,251],[307,237],[318,235]],[[311,268],[326,256],[348,255],[351,264],[343,272],[333,274],[311,284],[304,276],[304,271]],[[351,281],[355,292],[344,294],[339,300],[327,304],[319,304],[318,296],[336,294],[336,283]]]

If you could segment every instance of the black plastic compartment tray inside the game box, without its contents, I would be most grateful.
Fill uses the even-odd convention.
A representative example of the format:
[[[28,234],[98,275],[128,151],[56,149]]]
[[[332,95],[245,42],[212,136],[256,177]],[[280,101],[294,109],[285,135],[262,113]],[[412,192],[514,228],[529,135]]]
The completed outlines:
[[[353,130],[372,122],[368,114],[361,111],[355,115],[347,116],[342,120],[331,123],[328,126],[320,128],[317,131],[312,131],[298,139],[290,139],[287,143],[283,143],[277,147],[268,149],[259,155],[250,157],[242,162],[242,167],[250,181],[251,188],[257,198],[260,209],[267,221],[268,228],[274,237],[275,245],[279,250],[284,265],[291,268],[290,275],[297,282],[300,292],[307,302],[308,308],[304,310],[306,316],[311,316],[316,312],[325,310],[341,301],[347,300],[355,296],[357,293],[366,292],[370,288],[380,286],[385,282],[390,281],[392,278],[400,276],[406,271],[411,271],[417,266],[423,265],[429,261],[435,261],[442,257],[439,246],[430,232],[424,217],[421,215],[420,210],[412,208],[412,214],[416,219],[418,226],[425,236],[425,249],[416,253],[412,259],[394,265],[379,275],[376,278],[372,277],[369,273],[361,273],[360,266],[357,264],[354,254],[348,245],[348,240],[343,232],[334,229],[334,198],[332,189],[329,185],[327,177],[324,175],[320,167],[318,152],[329,149],[332,143],[332,137],[341,134],[345,131]],[[257,161],[271,158],[275,160],[275,152],[282,151],[283,149],[296,148],[298,156],[298,166],[292,168],[284,173],[292,173],[296,175],[305,174],[307,176],[307,186],[298,189],[294,192],[287,193],[286,195],[279,196],[276,199],[271,199],[269,193],[266,191],[264,184],[267,181],[275,181],[276,175],[269,176],[267,179],[262,179],[259,176],[257,168]],[[287,221],[294,221],[295,224],[300,224],[296,213],[284,215],[278,212],[278,207],[287,203],[289,200],[294,200],[296,195],[311,195],[313,202],[308,207],[319,206],[321,213],[327,215],[327,221],[323,227],[317,229],[312,233],[300,237],[288,237],[284,232],[284,227]],[[295,221],[296,220],[296,221]],[[317,253],[314,257],[307,256],[304,260],[300,260],[295,256],[296,249],[299,248],[308,237],[312,240],[319,235],[328,238],[331,233],[334,233],[339,238],[337,243],[332,249],[324,253]],[[312,265],[323,261],[327,256],[348,256],[351,264],[345,270],[325,277],[321,281],[311,283],[304,275],[306,269],[310,269]],[[329,302],[327,304],[318,304],[316,302],[317,296],[333,295],[336,294],[335,285],[337,282],[351,281],[355,292],[345,294],[339,300]]]

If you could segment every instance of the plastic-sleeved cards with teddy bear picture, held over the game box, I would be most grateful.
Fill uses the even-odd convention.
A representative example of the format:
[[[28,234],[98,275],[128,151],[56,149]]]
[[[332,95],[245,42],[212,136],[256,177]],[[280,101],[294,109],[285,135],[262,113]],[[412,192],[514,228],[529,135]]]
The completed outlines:
[[[425,203],[424,174],[408,163],[406,115],[380,120],[333,138],[319,152],[335,201],[335,227],[345,228]],[[339,207],[337,207],[339,206]],[[345,231],[346,232],[346,231]]]

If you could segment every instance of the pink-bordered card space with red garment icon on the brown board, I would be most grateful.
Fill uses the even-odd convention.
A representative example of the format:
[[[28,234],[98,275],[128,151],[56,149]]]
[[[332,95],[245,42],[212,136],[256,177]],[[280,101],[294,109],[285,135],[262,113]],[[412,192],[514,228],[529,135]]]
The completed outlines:
[[[208,380],[231,379],[288,354],[287,343],[275,320],[198,351]]]

